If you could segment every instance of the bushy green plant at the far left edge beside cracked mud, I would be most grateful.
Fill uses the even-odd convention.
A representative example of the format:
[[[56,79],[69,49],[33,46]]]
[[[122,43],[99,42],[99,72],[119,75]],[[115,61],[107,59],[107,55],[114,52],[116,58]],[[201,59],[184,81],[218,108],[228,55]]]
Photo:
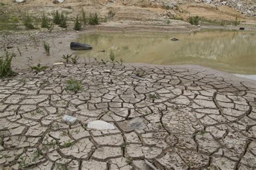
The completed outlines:
[[[5,51],[5,55],[0,56],[0,77],[15,76],[17,73],[12,71],[11,61],[16,54]]]

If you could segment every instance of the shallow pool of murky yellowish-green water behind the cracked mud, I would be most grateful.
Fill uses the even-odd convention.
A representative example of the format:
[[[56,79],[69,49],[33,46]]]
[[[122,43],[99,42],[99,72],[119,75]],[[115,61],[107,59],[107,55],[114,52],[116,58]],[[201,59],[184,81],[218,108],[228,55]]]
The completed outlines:
[[[177,38],[179,41],[171,41]],[[199,31],[192,33],[104,33],[83,34],[79,42],[93,46],[82,56],[109,60],[112,49],[117,60],[157,65],[193,64],[229,73],[256,74],[256,33]],[[104,51],[104,52],[100,52]]]

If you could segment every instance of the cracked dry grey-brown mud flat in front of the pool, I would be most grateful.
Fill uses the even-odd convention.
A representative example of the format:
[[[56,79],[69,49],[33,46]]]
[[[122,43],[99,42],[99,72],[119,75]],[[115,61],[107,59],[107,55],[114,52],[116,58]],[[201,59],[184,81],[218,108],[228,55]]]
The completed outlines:
[[[82,91],[65,91],[69,79]],[[204,67],[25,70],[0,81],[0,168],[149,169],[147,159],[159,169],[254,169],[255,100],[255,82]],[[116,129],[86,128],[97,119]]]

